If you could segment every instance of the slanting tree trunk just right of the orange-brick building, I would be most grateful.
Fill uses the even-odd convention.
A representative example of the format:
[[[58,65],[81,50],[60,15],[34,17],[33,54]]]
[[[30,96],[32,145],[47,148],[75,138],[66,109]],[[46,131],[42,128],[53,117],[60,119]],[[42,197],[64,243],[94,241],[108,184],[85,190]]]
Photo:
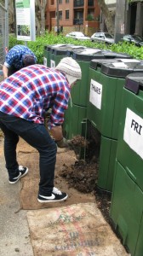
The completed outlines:
[[[97,0],[97,1],[100,5],[100,9],[101,9],[101,11],[104,15],[107,31],[113,34],[114,33],[114,26],[113,26],[112,13],[107,8],[105,0]]]

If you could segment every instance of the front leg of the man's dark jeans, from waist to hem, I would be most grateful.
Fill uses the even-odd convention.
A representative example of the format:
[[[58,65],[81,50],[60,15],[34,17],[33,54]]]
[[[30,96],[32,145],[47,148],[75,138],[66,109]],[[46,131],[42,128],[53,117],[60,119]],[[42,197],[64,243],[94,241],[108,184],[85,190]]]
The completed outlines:
[[[9,129],[9,131],[13,131],[16,135],[22,137],[33,148],[37,148],[40,154],[39,193],[41,195],[51,195],[54,187],[54,168],[57,147],[45,126],[0,112],[0,127],[3,127],[3,125]],[[4,133],[4,136],[7,137],[7,134]]]

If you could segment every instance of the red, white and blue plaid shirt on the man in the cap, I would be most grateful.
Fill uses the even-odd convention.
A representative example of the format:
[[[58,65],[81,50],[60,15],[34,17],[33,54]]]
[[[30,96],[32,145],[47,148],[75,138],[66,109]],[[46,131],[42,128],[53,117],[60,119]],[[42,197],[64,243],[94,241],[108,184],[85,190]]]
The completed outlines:
[[[52,108],[51,126],[61,125],[69,97],[66,76],[43,65],[24,67],[0,83],[0,111],[37,124]]]

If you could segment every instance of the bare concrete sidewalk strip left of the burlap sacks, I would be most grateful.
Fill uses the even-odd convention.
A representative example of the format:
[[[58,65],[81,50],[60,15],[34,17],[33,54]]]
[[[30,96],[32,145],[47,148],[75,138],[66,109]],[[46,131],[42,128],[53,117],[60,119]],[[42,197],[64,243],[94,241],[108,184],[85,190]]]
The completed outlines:
[[[20,210],[21,184],[9,184],[2,154],[0,170],[0,256],[33,256],[26,211]]]

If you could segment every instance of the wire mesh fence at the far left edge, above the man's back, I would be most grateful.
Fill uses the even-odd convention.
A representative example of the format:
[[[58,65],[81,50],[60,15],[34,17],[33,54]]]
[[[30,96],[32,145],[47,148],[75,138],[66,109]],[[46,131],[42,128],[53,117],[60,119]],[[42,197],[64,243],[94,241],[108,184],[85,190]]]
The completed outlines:
[[[2,67],[6,55],[6,49],[9,44],[9,16],[7,7],[7,2],[5,3],[5,7],[0,3],[0,80],[2,80]]]

